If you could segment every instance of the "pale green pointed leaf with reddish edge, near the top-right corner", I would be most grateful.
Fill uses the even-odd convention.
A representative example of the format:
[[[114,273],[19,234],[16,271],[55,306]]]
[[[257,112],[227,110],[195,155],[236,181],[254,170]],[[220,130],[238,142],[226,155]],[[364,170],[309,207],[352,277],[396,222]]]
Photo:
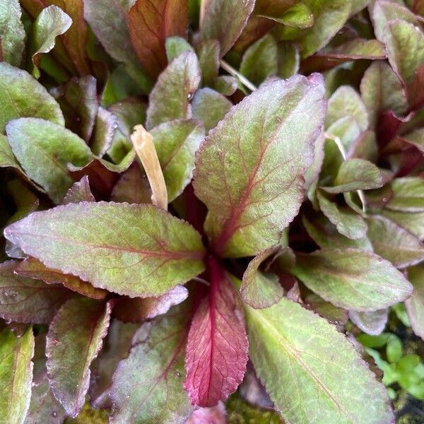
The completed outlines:
[[[408,86],[424,64],[423,32],[412,23],[395,20],[385,27],[383,39],[389,64]]]

